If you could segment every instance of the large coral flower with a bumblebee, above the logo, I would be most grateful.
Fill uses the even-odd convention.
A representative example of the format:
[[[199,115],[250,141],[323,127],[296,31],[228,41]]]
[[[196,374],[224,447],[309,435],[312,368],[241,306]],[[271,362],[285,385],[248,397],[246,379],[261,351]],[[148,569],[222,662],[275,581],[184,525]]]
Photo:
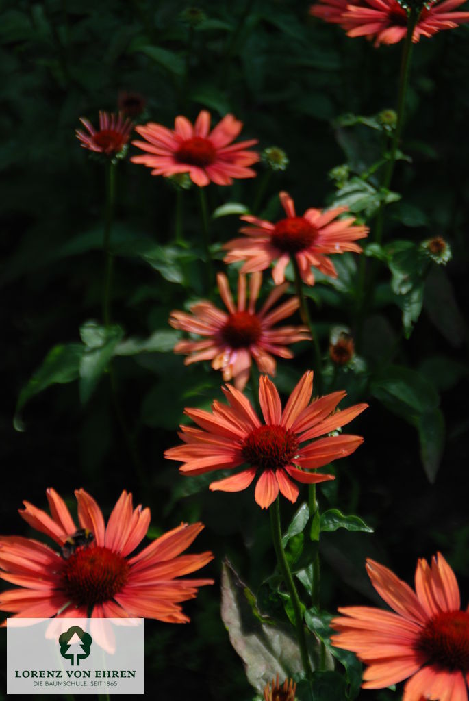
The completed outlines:
[[[202,524],[181,524],[129,557],[147,533],[150,510],[132,508],[123,491],[107,526],[92,496],[75,492],[81,529],[92,533],[81,544],[67,506],[53,489],[46,491],[50,516],[25,501],[20,516],[59,546],[38,540],[0,538],[0,578],[20,588],[0,594],[0,609],[14,618],[157,618],[184,623],[179,602],[192,599],[210,579],[179,579],[212,559],[211,552],[181,555]],[[80,534],[82,536],[82,534]],[[76,547],[66,545],[76,538]]]

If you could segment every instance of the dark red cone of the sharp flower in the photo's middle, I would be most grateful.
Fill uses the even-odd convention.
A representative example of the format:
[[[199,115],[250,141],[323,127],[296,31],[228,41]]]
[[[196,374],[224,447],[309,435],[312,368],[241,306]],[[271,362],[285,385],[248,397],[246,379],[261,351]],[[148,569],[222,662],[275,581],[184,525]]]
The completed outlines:
[[[283,426],[259,426],[245,438],[243,458],[261,470],[277,470],[290,465],[298,446],[296,435]]]

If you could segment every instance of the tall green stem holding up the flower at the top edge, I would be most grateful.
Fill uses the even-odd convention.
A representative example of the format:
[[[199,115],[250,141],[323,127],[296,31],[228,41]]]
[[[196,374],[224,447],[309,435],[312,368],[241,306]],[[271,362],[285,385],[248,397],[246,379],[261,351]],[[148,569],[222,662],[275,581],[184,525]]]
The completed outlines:
[[[417,11],[415,8],[410,8],[409,21],[407,23],[407,34],[405,37],[404,48],[402,49],[402,60],[400,65],[399,91],[397,93],[397,122],[395,125],[393,141],[391,143],[388,166],[384,172],[382,182],[382,187],[386,190],[389,189],[391,180],[393,179],[395,156],[397,154],[397,147],[399,146],[402,127],[404,125],[405,100],[407,97],[407,88],[409,86],[410,62],[412,57],[412,48],[414,46],[412,36],[414,34],[417,20],[419,19],[419,14],[419,11]],[[378,215],[376,216],[376,226],[374,229],[374,240],[376,243],[381,243],[381,240],[383,239],[384,207],[386,207],[386,203],[381,201]]]

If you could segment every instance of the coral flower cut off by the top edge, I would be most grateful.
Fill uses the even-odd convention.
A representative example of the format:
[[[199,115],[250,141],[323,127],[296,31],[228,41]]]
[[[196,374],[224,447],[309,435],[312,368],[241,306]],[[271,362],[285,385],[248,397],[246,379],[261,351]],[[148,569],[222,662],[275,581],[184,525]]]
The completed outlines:
[[[421,36],[433,36],[442,29],[454,29],[469,22],[469,12],[454,12],[465,0],[433,1],[423,6],[416,23],[412,41]],[[397,0],[321,0],[311,7],[311,15],[326,22],[339,24],[348,36],[374,39],[374,46],[397,43],[407,35],[407,11]]]

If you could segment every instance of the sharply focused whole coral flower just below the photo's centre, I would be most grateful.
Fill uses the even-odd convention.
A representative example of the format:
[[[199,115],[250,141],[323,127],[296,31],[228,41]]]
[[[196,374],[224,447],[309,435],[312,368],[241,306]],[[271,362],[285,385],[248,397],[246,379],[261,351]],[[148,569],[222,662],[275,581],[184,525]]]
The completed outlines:
[[[200,428],[181,426],[179,437],[184,445],[165,453],[166,458],[184,463],[179,468],[184,475],[248,465],[236,475],[212,482],[209,486],[212,491],[242,491],[260,470],[254,498],[261,508],[269,508],[279,489],[283,496],[295,502],[299,489],[288,475],[306,484],[334,479],[332,475],[317,475],[309,470],[350,455],[363,441],[361,436],[354,435],[320,438],[352,421],[367,404],[334,413],[345,392],[334,392],[310,404],[311,371],[301,378],[283,411],[276,386],[267,376],[261,376],[259,403],[265,423],[259,421],[250,402],[236,388],[226,385],[222,390],[229,406],[215,401],[212,414],[203,409],[185,409],[184,413]],[[301,445],[305,442],[308,444]]]

